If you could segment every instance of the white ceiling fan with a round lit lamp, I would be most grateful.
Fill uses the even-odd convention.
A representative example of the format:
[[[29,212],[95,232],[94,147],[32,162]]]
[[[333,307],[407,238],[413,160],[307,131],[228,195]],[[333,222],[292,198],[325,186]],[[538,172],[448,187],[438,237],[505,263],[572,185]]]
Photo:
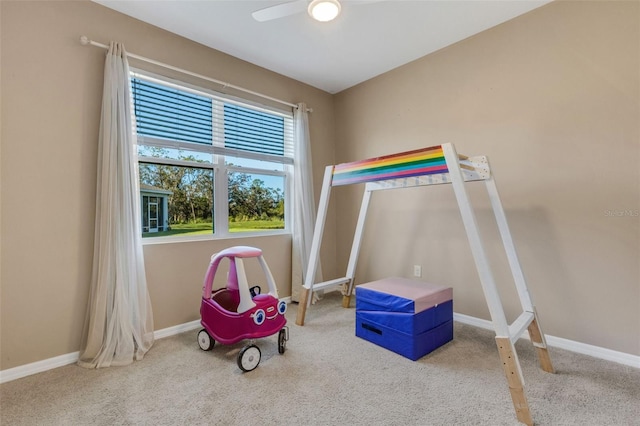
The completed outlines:
[[[349,6],[375,3],[378,1],[383,0],[342,0],[342,2],[348,3]],[[305,10],[307,10],[313,19],[320,22],[327,22],[340,14],[342,4],[339,0],[293,0],[256,10],[251,16],[258,22],[265,22],[295,15],[296,13],[302,13]]]

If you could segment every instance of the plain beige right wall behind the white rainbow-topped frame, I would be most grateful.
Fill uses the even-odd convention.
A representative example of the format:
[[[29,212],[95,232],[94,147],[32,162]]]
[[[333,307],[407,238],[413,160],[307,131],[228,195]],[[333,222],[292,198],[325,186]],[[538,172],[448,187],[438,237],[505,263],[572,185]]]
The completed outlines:
[[[548,334],[640,355],[638,2],[554,2],[336,96],[336,159],[452,142],[489,156]],[[508,317],[519,313],[482,186],[469,185]],[[339,270],[362,188],[336,190]],[[631,216],[609,216],[630,211]],[[616,214],[616,213],[612,213]],[[624,213],[621,213],[624,214]],[[376,193],[357,280],[454,287],[489,319],[450,187]]]

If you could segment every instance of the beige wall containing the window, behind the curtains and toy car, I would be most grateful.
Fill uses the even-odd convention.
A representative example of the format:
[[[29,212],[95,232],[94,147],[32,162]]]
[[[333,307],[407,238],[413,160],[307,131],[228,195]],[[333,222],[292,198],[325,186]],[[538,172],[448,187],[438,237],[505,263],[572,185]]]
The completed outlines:
[[[333,99],[325,92],[88,1],[0,4],[2,370],[80,349],[93,256],[105,56],[80,45],[81,35],[120,41],[130,52],[287,102],[306,102],[314,111],[310,131],[318,185],[324,166],[334,163]],[[329,275],[334,223],[332,213],[323,254]],[[290,294],[290,236],[147,245],[156,329],[199,318],[208,259],[235,244],[263,248],[281,296]]]

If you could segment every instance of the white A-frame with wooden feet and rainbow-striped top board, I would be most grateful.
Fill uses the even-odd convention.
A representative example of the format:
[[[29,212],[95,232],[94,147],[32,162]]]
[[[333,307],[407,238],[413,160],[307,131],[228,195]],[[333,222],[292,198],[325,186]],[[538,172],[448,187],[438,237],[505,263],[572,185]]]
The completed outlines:
[[[485,182],[498,224],[498,231],[500,232],[500,237],[507,253],[509,267],[511,268],[522,305],[522,313],[511,325],[507,323],[500,295],[498,294],[493,273],[480,237],[475,213],[465,188],[466,182],[473,181]],[[358,215],[346,275],[322,283],[314,283],[313,277],[316,276],[320,256],[320,243],[324,233],[324,224],[331,189],[333,187],[353,184],[365,184],[365,191],[362,197],[362,205]],[[537,313],[531,301],[524,274],[520,267],[498,189],[491,174],[489,161],[485,156],[467,157],[459,155],[452,144],[446,143],[383,157],[327,166],[322,184],[322,192],[320,194],[309,265],[305,274],[305,282],[298,306],[296,324],[300,326],[304,325],[306,311],[311,304],[314,291],[344,286],[342,306],[345,308],[349,307],[351,295],[353,294],[356,263],[360,252],[367,210],[373,192],[438,184],[451,184],[453,187],[476,269],[480,277],[480,283],[495,328],[496,343],[509,383],[509,390],[516,415],[519,421],[531,425],[533,424],[533,420],[524,393],[524,379],[522,377],[514,342],[528,330],[531,341],[537,349],[541,368],[547,372],[554,372],[554,369],[547,351],[544,334],[539,326]]]

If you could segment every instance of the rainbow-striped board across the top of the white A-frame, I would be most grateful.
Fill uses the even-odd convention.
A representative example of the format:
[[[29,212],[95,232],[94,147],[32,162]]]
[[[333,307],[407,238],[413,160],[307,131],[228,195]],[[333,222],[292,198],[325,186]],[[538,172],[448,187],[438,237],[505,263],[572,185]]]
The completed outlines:
[[[448,171],[442,145],[437,145],[368,160],[337,164],[333,168],[331,186],[447,173]]]

